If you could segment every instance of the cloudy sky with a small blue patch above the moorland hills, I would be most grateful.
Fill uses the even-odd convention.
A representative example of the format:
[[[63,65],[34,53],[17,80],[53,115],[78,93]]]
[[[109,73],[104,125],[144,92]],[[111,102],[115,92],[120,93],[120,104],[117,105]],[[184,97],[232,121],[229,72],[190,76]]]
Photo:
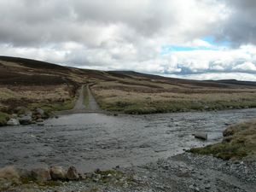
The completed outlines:
[[[255,0],[0,0],[0,55],[256,81]]]

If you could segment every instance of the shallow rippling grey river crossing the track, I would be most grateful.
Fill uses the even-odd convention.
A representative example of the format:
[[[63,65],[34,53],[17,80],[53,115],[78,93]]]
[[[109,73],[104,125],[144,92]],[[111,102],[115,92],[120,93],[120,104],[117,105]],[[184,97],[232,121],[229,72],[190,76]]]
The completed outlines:
[[[183,152],[183,148],[216,143],[226,125],[256,117],[256,108],[203,113],[112,116],[100,113],[64,115],[44,126],[0,128],[0,167],[41,165],[96,168],[141,165]],[[207,132],[208,141],[195,139]]]

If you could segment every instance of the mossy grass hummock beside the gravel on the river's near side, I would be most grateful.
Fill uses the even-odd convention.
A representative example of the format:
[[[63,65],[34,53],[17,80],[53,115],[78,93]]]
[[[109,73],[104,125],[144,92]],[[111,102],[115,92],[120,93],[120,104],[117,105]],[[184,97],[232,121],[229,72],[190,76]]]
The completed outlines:
[[[256,160],[256,119],[229,126],[223,142],[204,148],[191,148],[196,154],[213,154],[224,160]]]

